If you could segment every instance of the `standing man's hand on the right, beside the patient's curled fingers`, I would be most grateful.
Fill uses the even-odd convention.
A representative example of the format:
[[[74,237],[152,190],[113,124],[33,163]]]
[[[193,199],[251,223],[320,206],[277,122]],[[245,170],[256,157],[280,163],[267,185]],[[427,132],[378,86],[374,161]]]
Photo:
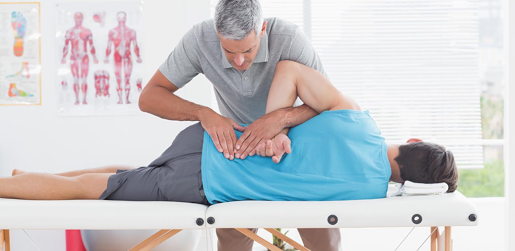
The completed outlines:
[[[249,124],[236,142],[237,151],[234,157],[244,159],[257,146],[278,135],[284,129],[283,120],[284,112],[277,110],[267,113]]]

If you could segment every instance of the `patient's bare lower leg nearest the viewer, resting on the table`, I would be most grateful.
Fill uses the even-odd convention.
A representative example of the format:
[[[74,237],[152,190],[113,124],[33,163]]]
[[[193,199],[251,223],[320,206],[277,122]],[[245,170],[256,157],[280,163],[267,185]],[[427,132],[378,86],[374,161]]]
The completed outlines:
[[[96,200],[106,190],[111,173],[63,177],[26,172],[0,177],[0,198],[23,200]]]

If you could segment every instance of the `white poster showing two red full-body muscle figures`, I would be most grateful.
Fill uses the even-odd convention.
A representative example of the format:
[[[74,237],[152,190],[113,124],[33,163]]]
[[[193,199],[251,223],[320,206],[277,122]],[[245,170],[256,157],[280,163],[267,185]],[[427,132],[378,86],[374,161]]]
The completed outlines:
[[[140,113],[143,37],[141,2],[57,4],[58,114]]]

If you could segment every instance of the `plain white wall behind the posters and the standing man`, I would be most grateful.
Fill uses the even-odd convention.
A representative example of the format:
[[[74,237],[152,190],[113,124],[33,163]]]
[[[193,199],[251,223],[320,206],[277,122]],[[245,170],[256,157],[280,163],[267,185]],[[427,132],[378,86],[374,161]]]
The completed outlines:
[[[10,176],[13,168],[55,173],[110,164],[148,165],[180,130],[193,122],[167,121],[143,112],[132,116],[58,117],[56,3],[59,2],[41,0],[41,105],[0,106],[0,175]],[[145,38],[138,39],[145,40],[140,50],[144,78],[148,80],[182,34],[193,24],[209,19],[209,0],[149,0],[143,8]],[[102,53],[103,49],[97,51]],[[207,79],[199,75],[177,94],[210,105],[211,88]],[[64,250],[63,230],[28,232],[43,250]],[[13,251],[37,250],[21,230],[13,230],[12,241]]]

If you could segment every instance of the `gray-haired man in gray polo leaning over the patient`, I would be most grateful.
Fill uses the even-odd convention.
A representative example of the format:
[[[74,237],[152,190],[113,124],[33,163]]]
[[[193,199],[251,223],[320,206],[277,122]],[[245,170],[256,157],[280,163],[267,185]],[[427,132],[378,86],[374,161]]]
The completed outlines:
[[[220,0],[214,19],[186,32],[149,80],[140,96],[140,109],[164,119],[200,121],[220,153],[230,160],[244,159],[284,128],[317,115],[305,104],[265,115],[270,84],[281,60],[299,62],[327,77],[297,25],[275,17],[264,19],[259,0]],[[174,95],[199,73],[213,84],[221,115]],[[233,129],[244,133],[238,139]],[[298,230],[304,245],[313,251],[341,250],[338,228]],[[216,234],[219,251],[252,249],[253,241],[235,229],[216,229]]]

